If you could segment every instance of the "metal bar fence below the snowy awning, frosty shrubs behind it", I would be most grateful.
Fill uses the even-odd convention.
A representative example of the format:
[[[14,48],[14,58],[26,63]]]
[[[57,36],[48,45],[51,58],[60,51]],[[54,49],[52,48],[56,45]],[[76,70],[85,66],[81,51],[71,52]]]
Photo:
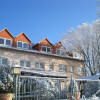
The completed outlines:
[[[67,79],[19,76],[17,100],[54,100],[67,98]]]

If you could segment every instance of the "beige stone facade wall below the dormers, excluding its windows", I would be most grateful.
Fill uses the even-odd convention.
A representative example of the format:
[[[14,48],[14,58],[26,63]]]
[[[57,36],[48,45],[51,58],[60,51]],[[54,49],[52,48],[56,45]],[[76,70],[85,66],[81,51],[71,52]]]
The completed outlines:
[[[20,60],[30,61],[31,67],[29,69],[35,69],[36,62],[43,62],[45,63],[45,71],[50,71],[49,66],[50,64],[54,63],[54,70],[52,72],[59,72],[59,64],[64,64],[67,67],[66,72],[59,72],[67,74],[70,78],[71,74],[74,78],[78,78],[84,75],[84,62],[82,60],[71,59],[71,58],[63,58],[57,57],[53,55],[46,55],[41,53],[35,52],[27,52],[23,50],[17,49],[8,49],[8,48],[1,48],[0,47],[0,57],[8,58],[9,62],[13,62],[14,64],[20,64]],[[70,72],[70,67],[74,67],[74,72]],[[78,72],[78,67],[83,67],[83,73]]]

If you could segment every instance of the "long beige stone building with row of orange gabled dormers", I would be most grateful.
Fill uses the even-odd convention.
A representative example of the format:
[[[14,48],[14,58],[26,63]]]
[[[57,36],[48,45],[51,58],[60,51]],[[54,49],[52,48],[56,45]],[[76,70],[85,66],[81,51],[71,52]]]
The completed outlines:
[[[22,75],[79,78],[85,75],[84,60],[69,54],[61,42],[47,38],[37,44],[25,35],[14,37],[8,29],[0,31],[0,65],[18,64]]]

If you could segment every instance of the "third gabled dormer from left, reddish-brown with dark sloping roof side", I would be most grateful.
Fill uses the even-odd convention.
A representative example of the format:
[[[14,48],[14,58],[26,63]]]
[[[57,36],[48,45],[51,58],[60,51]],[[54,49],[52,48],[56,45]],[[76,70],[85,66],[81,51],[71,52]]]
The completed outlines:
[[[33,49],[45,53],[54,53],[54,46],[47,38],[34,45]]]

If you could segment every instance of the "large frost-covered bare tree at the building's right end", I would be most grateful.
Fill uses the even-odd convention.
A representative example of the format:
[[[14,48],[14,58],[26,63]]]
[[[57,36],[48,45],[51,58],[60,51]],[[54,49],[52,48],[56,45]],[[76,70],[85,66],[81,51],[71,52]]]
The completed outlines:
[[[62,37],[62,43],[70,52],[74,50],[82,54],[87,74],[100,72],[100,20],[92,24],[84,23],[76,30],[68,31]]]

